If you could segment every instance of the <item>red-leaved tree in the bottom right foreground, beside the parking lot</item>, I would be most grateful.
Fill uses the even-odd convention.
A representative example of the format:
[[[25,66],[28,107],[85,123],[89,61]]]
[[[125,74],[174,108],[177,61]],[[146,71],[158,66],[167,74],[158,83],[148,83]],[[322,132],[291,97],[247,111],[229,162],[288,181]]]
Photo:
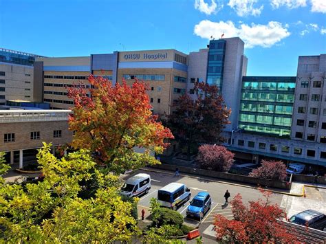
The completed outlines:
[[[264,200],[250,201],[243,205],[241,195],[236,195],[230,202],[234,219],[229,220],[215,215],[217,241],[226,243],[292,243],[296,241],[293,230],[277,219],[284,217],[284,212],[270,203],[272,192],[261,190]]]

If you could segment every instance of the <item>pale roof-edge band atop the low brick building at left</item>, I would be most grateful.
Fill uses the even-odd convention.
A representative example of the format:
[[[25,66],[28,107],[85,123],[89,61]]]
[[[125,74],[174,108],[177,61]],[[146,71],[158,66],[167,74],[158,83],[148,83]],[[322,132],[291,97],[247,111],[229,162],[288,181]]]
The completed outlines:
[[[71,110],[0,110],[0,123],[68,120]]]

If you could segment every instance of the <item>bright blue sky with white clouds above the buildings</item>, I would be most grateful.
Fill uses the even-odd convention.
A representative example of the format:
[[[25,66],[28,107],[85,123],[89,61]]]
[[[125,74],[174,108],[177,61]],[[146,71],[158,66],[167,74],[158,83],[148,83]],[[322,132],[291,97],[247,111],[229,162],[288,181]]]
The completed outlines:
[[[326,0],[0,0],[0,47],[44,56],[246,42],[248,76],[295,76],[326,53]]]

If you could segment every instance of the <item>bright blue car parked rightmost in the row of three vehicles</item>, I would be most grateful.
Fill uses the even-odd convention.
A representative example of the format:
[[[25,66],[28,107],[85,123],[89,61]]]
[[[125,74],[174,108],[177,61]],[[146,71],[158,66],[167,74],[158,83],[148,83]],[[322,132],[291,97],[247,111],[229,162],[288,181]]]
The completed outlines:
[[[212,199],[208,192],[199,192],[191,201],[187,208],[187,217],[196,217],[201,219],[212,206]]]

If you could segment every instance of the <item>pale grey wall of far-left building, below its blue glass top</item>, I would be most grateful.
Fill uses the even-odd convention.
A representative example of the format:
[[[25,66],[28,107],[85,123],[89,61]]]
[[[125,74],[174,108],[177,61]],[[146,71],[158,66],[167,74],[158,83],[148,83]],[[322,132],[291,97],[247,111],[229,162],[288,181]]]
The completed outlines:
[[[33,67],[1,64],[0,72],[5,72],[4,76],[0,75],[0,104],[4,104],[6,100],[34,101]],[[1,91],[2,88],[5,91]]]

